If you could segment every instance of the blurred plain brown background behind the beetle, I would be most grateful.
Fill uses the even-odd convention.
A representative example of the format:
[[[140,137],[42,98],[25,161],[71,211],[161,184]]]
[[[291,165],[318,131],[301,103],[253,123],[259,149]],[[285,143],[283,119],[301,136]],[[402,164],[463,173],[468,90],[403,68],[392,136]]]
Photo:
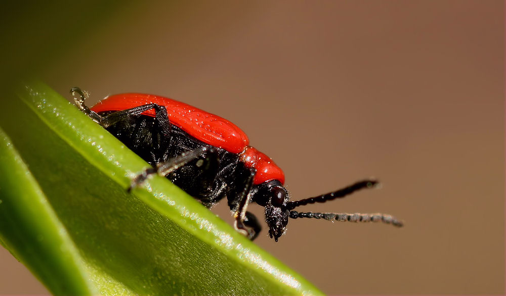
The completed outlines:
[[[504,293],[502,1],[181,2],[109,13],[37,76],[66,97],[72,86],[92,102],[147,92],[227,118],[284,169],[292,199],[383,182],[304,210],[390,213],[404,228],[298,219],[278,243],[265,229],[256,240],[324,292]],[[226,203],[213,211],[232,221]],[[2,249],[0,293],[47,290]]]

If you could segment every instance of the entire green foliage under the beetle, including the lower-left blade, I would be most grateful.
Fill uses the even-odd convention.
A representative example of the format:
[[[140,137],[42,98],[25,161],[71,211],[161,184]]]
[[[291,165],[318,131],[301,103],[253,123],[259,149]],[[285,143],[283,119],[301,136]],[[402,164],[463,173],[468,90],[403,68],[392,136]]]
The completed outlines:
[[[53,293],[321,294],[166,178],[126,192],[148,165],[46,85],[8,99],[0,238]]]

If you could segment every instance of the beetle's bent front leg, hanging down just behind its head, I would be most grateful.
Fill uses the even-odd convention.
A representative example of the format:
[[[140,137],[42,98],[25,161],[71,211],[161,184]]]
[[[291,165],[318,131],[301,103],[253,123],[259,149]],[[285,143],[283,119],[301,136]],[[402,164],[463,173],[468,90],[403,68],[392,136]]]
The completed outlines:
[[[255,174],[257,173],[257,170],[254,168],[249,169],[249,175],[244,180],[244,188],[241,191],[241,195],[239,196],[239,204],[237,206],[237,209],[234,213],[234,228],[239,231],[240,233],[244,234],[249,239],[254,239],[257,236],[257,233],[255,232],[257,229],[255,229],[255,222],[246,222],[250,221],[246,217],[246,209],[249,204],[250,196],[249,192],[251,191],[251,186],[253,185],[253,179],[255,178]],[[248,225],[249,224],[249,225]],[[258,224],[258,222],[257,222]],[[249,226],[249,227],[248,227]],[[252,227],[251,227],[252,226]]]

